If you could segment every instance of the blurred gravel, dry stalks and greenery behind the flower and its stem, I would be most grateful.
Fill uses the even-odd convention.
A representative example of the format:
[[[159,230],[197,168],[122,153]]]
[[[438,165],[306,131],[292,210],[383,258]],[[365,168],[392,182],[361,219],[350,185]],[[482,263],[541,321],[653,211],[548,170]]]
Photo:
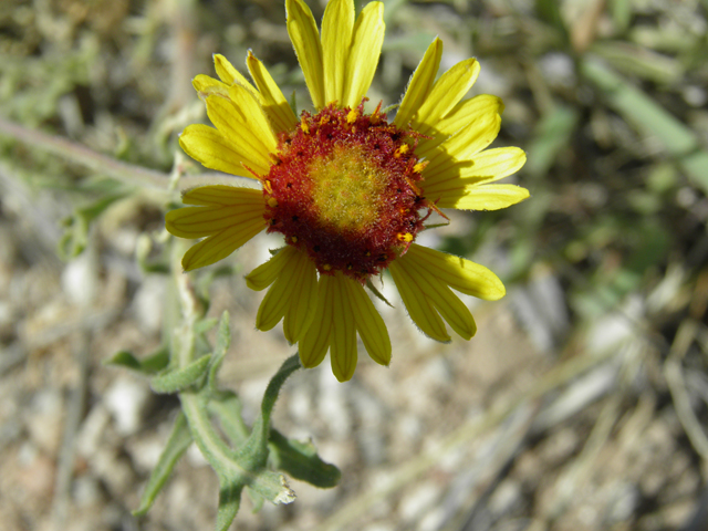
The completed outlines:
[[[371,101],[398,102],[439,35],[441,71],[476,56],[470,95],[506,103],[492,146],[527,150],[510,180],[531,199],[421,236],[508,295],[466,298],[477,336],[440,345],[386,282],[392,366],[360,348],[339,384],[325,361],[275,412],[340,486],[293,481],[294,503],[258,513],[246,500],[232,529],[707,530],[708,2],[384,3]],[[206,121],[191,77],[216,52],[246,72],[252,49],[309,108],[284,21],[274,0],[0,2],[3,530],[214,525],[196,448],[131,516],[178,400],[104,362],[150,354],[168,325],[166,183],[202,170],[176,140]],[[209,314],[230,311],[221,382],[247,418],[294,352],[280,326],[254,330],[263,293],[242,279],[279,246],[258,237],[196,275]]]

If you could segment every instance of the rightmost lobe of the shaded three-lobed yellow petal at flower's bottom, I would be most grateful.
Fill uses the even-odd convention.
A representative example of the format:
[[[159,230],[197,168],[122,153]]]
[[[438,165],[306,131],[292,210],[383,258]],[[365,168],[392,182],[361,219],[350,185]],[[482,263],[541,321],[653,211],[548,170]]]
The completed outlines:
[[[358,282],[344,279],[346,295],[354,314],[354,323],[366,352],[376,363],[391,363],[391,339],[384,320]]]

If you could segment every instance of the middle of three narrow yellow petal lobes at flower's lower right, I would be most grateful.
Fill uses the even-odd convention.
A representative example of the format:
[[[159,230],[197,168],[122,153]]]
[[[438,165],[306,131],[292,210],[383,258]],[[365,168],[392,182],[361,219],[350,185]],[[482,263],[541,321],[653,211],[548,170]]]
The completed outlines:
[[[425,269],[419,268],[415,257],[407,260],[405,256],[402,258],[406,261],[416,285],[428,298],[442,319],[458,335],[465,340],[470,340],[477,332],[477,325],[469,309],[460,301],[459,296],[452,293],[452,290],[442,281],[428,274]]]

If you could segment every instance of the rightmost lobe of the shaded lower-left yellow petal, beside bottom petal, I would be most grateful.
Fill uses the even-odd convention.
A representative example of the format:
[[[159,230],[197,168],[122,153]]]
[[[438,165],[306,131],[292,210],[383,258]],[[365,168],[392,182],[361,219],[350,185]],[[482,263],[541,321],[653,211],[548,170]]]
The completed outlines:
[[[314,264],[306,253],[298,252],[292,268],[293,275],[288,293],[290,303],[283,321],[283,333],[291,344],[302,339],[317,309],[317,274]]]

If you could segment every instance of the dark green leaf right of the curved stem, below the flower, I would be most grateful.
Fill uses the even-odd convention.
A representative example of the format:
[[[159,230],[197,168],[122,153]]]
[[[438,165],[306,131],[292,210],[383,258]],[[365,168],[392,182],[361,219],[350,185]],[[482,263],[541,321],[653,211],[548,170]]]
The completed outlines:
[[[334,465],[324,462],[311,441],[288,439],[280,431],[270,431],[270,458],[273,466],[289,476],[326,489],[335,487],[342,472]]]

